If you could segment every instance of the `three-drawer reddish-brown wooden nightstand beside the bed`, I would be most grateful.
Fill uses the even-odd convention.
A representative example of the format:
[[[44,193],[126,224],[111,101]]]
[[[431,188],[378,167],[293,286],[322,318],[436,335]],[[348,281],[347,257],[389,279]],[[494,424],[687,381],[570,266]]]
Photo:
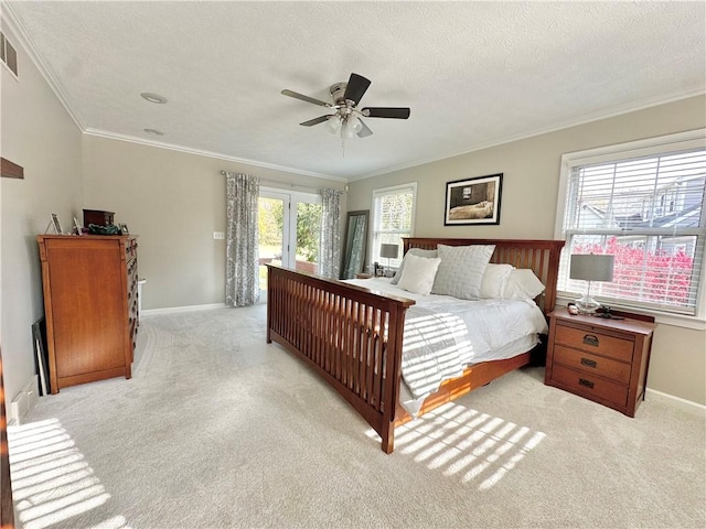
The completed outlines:
[[[566,309],[549,314],[544,384],[635,417],[644,400],[655,324],[620,315],[627,317],[573,316]]]

